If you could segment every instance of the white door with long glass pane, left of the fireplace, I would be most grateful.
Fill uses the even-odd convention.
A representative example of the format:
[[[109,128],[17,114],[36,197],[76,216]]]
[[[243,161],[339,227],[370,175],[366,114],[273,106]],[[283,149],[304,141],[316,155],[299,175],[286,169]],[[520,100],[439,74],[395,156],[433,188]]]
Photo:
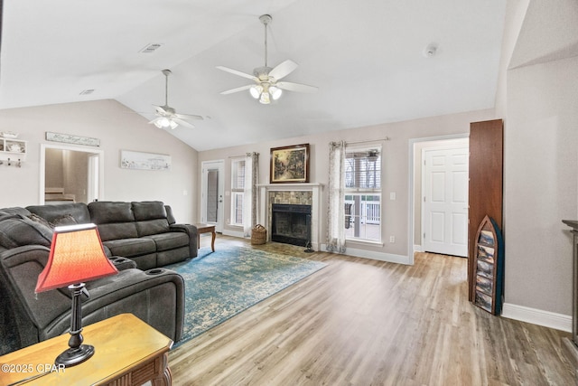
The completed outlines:
[[[200,221],[215,225],[215,231],[223,231],[223,195],[225,192],[224,161],[202,163],[202,183],[200,197]]]

